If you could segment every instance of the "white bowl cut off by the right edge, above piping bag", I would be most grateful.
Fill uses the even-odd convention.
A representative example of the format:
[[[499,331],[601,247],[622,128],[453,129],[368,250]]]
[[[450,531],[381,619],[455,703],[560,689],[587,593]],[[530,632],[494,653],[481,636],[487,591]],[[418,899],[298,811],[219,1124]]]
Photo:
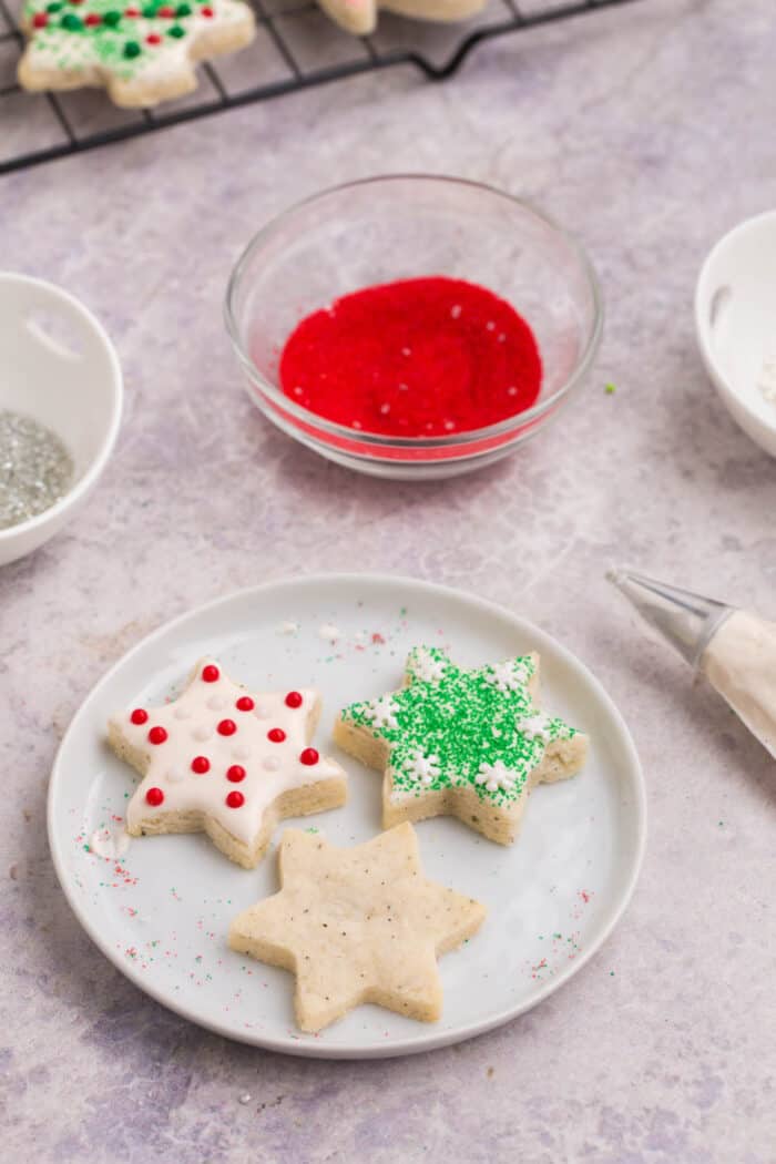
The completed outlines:
[[[776,211],[741,222],[706,258],[696,332],[728,412],[776,456]]]

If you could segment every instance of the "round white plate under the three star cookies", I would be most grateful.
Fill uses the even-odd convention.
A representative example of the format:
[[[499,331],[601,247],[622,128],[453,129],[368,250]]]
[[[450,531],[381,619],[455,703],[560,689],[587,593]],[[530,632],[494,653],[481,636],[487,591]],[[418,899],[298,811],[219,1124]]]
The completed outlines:
[[[134,785],[133,772],[105,743],[106,721],[175,694],[205,654],[248,687],[316,687],[325,707],[315,743],[343,764],[350,793],[346,808],[300,824],[336,845],[358,844],[380,828],[380,776],[337,752],[332,722],[344,703],[398,687],[405,656],[419,643],[447,647],[467,666],[539,651],[541,705],[590,734],[590,757],[575,779],[532,794],[510,849],[458,821],[418,825],[428,875],[487,907],[479,934],[440,960],[440,1022],[368,1006],[320,1035],[304,1035],[294,1025],[291,974],[233,953],[226,943],[230,920],[277,889],[273,850],[252,871],[232,864],[205,836],[140,838],[113,859],[92,850],[94,840],[105,850],[106,833],[121,839]],[[49,789],[49,839],[62,886],[90,937],[127,978],[221,1035],[328,1058],[427,1051],[498,1027],[547,998],[620,917],[645,828],[643,779],[628,730],[574,655],[499,606],[376,575],[257,587],[156,631],[86,698],[62,741]]]

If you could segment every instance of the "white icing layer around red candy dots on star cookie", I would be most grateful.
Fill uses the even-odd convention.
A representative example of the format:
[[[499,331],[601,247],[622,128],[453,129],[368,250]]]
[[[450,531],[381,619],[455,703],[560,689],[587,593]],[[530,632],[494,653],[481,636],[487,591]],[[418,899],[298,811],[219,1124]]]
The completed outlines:
[[[220,677],[214,683],[202,680],[202,668],[219,667]],[[120,738],[135,752],[148,760],[148,771],[138,785],[127,808],[127,822],[131,828],[141,828],[143,821],[164,819],[165,814],[201,811],[216,819],[232,836],[247,845],[252,845],[262,828],[266,808],[289,788],[299,788],[333,776],[341,776],[342,768],[321,757],[315,765],[304,765],[300,753],[309,744],[313,725],[319,710],[319,695],[309,688],[298,688],[302,696],[299,708],[289,708],[285,702],[287,688],[283,691],[250,693],[255,704],[266,709],[268,719],[259,721],[252,711],[234,710],[237,731],[233,736],[221,736],[214,729],[214,715],[208,703],[214,695],[223,696],[226,704],[235,707],[245,690],[223,674],[219,663],[202,659],[197,665],[194,677],[176,703],[159,708],[147,708],[148,721],[133,724],[129,712],[116,716],[111,725]],[[207,745],[192,743],[191,726],[180,726],[177,710],[184,707],[195,723],[194,731],[204,728]],[[204,721],[204,723],[202,723]],[[161,726],[168,732],[163,744],[149,743],[151,728]],[[268,731],[280,728],[285,739],[272,743]],[[205,755],[211,767],[197,775],[191,769],[195,755]],[[239,783],[227,780],[226,773],[235,759],[245,768],[245,778]],[[270,765],[265,764],[270,760]],[[273,765],[277,765],[275,767]],[[170,773],[180,773],[180,780],[170,780]],[[164,802],[151,807],[145,801],[149,788],[161,788]],[[229,808],[226,799],[239,790],[244,796],[241,808]]]

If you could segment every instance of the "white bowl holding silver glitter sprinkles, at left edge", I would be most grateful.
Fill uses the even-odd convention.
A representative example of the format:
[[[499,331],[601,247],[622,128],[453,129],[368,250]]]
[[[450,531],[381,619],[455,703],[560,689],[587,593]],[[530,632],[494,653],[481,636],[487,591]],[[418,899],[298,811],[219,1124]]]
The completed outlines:
[[[0,272],[0,410],[51,428],[73,481],[50,509],[0,530],[0,566],[31,553],[73,516],[102,473],[121,423],[121,368],[102,326],[60,288]]]

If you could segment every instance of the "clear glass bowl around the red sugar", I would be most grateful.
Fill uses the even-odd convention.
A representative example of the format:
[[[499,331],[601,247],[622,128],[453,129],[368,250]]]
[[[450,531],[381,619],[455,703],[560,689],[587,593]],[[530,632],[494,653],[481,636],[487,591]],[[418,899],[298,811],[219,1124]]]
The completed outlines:
[[[543,364],[531,409],[449,436],[397,438],[326,420],[282,392],[280,353],[300,319],[362,288],[433,275],[479,283],[528,321]],[[264,416],[339,464],[403,480],[467,473],[534,436],[582,383],[603,324],[596,275],[570,235],[501,191],[423,175],[336,186],[280,214],[237,261],[225,310]]]

